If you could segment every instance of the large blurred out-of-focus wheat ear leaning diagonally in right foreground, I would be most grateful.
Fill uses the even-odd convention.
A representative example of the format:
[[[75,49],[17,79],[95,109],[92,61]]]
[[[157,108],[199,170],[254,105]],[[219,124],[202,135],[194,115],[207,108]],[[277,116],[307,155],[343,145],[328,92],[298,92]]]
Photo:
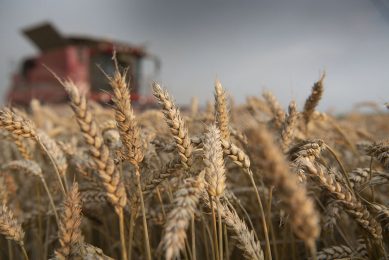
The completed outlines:
[[[265,184],[279,191],[295,234],[314,250],[315,240],[320,233],[319,217],[305,187],[299,185],[297,177],[289,172],[288,164],[266,128],[248,131],[255,144],[253,153],[258,156],[255,164],[263,169],[261,175]]]

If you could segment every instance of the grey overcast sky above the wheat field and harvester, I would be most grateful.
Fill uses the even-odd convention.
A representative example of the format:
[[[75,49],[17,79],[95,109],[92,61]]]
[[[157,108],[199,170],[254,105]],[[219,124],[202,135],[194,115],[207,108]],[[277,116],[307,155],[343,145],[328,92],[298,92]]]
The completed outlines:
[[[20,29],[51,21],[64,34],[146,44],[178,103],[212,98],[218,77],[239,102],[271,90],[300,107],[325,70],[321,109],[389,100],[387,0],[0,1],[0,95],[23,56]]]

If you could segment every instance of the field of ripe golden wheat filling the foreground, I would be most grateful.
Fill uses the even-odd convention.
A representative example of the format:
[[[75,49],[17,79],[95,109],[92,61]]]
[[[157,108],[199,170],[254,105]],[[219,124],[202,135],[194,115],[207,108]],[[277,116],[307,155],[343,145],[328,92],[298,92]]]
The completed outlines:
[[[317,111],[322,75],[287,111],[217,81],[204,109],[154,83],[160,109],[134,113],[111,76],[111,107],[59,79],[60,115],[1,109],[0,259],[387,258],[385,110]]]

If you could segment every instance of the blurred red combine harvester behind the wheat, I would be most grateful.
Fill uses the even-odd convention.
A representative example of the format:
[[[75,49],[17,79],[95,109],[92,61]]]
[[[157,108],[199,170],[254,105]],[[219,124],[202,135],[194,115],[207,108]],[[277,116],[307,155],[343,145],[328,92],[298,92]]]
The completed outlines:
[[[28,105],[31,99],[38,99],[43,103],[60,104],[67,100],[59,82],[43,65],[52,69],[60,78],[73,80],[90,99],[99,103],[109,102],[111,87],[97,65],[108,75],[113,75],[114,50],[120,67],[129,69],[131,99],[134,104],[153,103],[153,99],[144,93],[145,88],[142,89],[147,84],[147,79],[142,74],[142,61],[152,61],[154,75],[159,71],[160,63],[143,47],[88,37],[63,37],[49,23],[26,29],[23,33],[41,53],[25,59],[19,72],[13,76],[7,95],[9,103]]]

